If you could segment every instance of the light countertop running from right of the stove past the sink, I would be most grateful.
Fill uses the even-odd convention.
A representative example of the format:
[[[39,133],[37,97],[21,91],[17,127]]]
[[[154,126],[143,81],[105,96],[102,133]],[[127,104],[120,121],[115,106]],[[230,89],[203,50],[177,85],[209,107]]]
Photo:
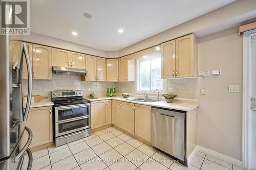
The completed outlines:
[[[123,101],[123,102],[130,102],[130,103],[136,103],[136,104],[141,104],[141,105],[148,105],[148,106],[155,106],[155,107],[161,107],[161,108],[167,108],[167,109],[174,109],[174,110],[181,110],[181,111],[186,111],[189,112],[195,108],[198,107],[198,104],[195,102],[181,102],[181,100],[174,102],[174,103],[166,103],[165,101],[157,101],[157,102],[152,102],[152,103],[146,103],[146,102],[139,102],[139,101],[128,101],[122,97],[100,97],[97,99],[88,99],[84,98],[87,100],[90,100],[91,102],[94,101],[100,101],[100,100],[118,100],[118,101]],[[132,99],[132,98],[128,98]]]

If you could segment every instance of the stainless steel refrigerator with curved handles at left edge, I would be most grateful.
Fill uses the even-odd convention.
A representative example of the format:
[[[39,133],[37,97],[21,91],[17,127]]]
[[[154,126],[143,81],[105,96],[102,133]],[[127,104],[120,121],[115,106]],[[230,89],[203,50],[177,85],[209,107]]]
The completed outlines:
[[[10,38],[0,35],[0,169],[21,169],[26,152],[29,157],[27,169],[31,169],[33,159],[29,145],[32,141],[32,131],[22,126],[28,118],[31,104],[31,61],[24,43],[17,48],[18,55],[10,55]],[[23,68],[24,61],[26,68]],[[22,71],[25,69],[28,71],[28,94],[24,95],[28,98],[24,109]],[[25,133],[28,133],[27,141],[25,145],[21,145],[20,141],[25,138]]]

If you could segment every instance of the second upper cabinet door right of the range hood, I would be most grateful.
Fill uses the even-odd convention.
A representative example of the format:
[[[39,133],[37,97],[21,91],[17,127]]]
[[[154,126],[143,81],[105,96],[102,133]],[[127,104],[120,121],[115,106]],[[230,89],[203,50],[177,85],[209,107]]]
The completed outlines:
[[[96,63],[97,81],[106,81],[106,59],[97,57]]]

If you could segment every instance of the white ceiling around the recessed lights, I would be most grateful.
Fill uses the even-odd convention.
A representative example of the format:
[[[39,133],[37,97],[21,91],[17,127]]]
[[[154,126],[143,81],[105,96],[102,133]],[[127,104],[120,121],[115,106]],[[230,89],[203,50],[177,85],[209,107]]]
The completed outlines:
[[[103,51],[118,51],[234,1],[33,0],[30,30]],[[91,19],[83,16],[86,12]],[[73,36],[72,31],[78,35]]]

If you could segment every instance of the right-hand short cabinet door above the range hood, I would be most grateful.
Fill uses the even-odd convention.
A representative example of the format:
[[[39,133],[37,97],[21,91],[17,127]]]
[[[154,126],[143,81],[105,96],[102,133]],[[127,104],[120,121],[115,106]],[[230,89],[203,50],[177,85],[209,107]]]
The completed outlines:
[[[70,66],[72,68],[85,69],[86,68],[86,55],[81,53],[70,52]]]

